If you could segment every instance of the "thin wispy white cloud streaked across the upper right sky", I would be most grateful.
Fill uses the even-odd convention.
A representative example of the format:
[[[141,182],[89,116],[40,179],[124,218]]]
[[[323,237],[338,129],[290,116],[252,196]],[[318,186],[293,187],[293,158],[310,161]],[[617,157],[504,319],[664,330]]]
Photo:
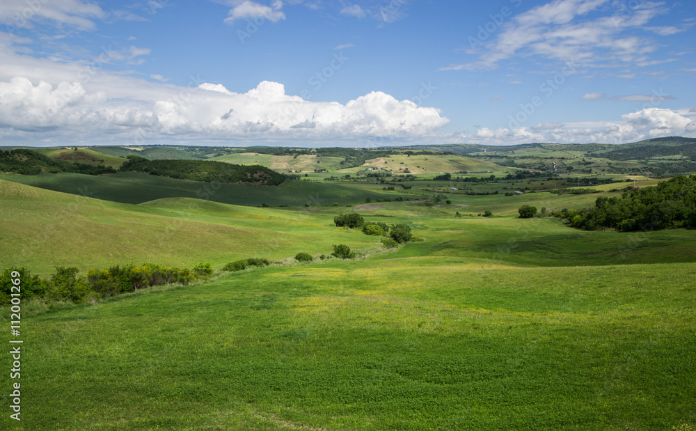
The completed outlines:
[[[655,52],[658,45],[635,33],[666,12],[663,3],[642,2],[628,16],[606,7],[608,3],[610,0],[554,0],[532,8],[502,24],[496,38],[470,37],[470,49],[466,52],[477,55],[477,61],[441,70],[493,69],[498,68],[500,61],[514,56],[537,56],[581,65],[647,61],[647,54]],[[603,16],[596,17],[598,14]],[[673,31],[663,27],[651,29],[657,33]]]

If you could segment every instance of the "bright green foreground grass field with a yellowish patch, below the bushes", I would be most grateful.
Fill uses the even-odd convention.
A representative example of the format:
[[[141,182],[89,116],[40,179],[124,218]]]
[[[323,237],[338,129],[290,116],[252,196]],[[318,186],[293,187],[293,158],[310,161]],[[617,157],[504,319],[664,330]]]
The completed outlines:
[[[666,430],[696,422],[695,271],[394,256],[49,311],[11,425]]]

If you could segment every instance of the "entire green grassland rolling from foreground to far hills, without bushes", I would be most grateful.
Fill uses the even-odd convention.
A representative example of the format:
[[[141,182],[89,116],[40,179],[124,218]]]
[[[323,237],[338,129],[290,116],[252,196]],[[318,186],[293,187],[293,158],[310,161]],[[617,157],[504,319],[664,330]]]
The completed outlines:
[[[111,148],[114,158],[134,151]],[[562,148],[519,151],[550,157]],[[68,266],[81,275],[144,262],[215,269],[208,281],[86,304],[22,302],[22,421],[3,407],[0,429],[696,426],[696,230],[584,231],[517,218],[521,205],[590,207],[632,183],[556,194],[544,190],[569,187],[567,177],[428,180],[516,171],[450,155],[342,170],[340,159],[315,155],[217,159],[312,171],[278,187],[131,172],[0,174],[0,269],[24,266],[44,279]],[[314,164],[331,171],[314,173]],[[420,170],[418,179],[354,181],[382,165]],[[322,181],[346,173],[350,180]],[[525,193],[505,196],[512,190]],[[425,205],[436,193],[450,202]],[[334,226],[345,212],[406,224],[416,238],[386,249],[381,237]],[[358,257],[331,257],[334,244]],[[313,262],[294,260],[299,252]],[[244,258],[274,263],[222,271]],[[7,346],[14,318],[0,310]],[[10,355],[4,363],[9,406]]]

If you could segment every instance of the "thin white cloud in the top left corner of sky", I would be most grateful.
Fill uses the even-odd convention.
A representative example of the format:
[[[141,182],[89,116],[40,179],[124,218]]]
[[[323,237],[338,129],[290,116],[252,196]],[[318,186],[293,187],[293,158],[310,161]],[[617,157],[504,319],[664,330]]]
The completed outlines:
[[[79,30],[95,29],[93,19],[104,19],[106,13],[95,3],[81,0],[2,1],[0,22],[10,26],[31,27],[33,24],[68,25]]]

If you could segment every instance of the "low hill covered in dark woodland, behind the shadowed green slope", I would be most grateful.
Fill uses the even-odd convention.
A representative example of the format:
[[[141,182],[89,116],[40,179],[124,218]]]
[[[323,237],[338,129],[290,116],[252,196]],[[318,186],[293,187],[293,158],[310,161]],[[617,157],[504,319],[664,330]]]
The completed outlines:
[[[277,186],[287,177],[264,166],[243,166],[211,160],[148,160],[128,156],[121,171],[150,173],[180,180],[228,182],[232,184]]]

